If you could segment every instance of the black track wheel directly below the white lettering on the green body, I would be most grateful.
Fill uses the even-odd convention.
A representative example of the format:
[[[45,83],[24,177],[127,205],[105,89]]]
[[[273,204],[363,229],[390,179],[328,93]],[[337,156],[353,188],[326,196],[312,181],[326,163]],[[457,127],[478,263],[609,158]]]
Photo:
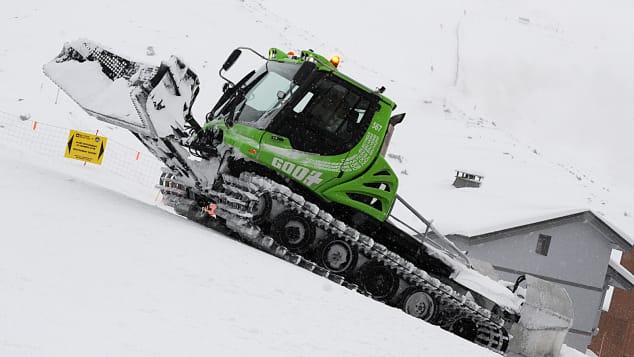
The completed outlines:
[[[305,253],[315,241],[315,227],[305,217],[285,211],[273,220],[271,235],[290,251]]]

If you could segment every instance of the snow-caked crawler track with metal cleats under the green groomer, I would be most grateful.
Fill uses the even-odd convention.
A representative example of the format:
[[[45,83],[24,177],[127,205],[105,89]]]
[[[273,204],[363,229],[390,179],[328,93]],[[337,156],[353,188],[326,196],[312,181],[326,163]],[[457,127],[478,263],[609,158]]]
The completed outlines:
[[[329,213],[320,210],[317,205],[307,202],[302,196],[293,193],[287,186],[273,180],[251,173],[243,173],[240,178],[224,175],[223,180],[223,192],[210,192],[210,196],[216,199],[218,206],[216,214],[226,220],[229,229],[239,233],[251,245],[328,278],[348,289],[370,296],[356,284],[346,281],[345,277],[331,273],[317,263],[289,251],[272,237],[265,235],[253,223],[250,214],[251,208],[255,206],[261,194],[269,193],[272,200],[282,204],[286,209],[306,217],[315,226],[325,230],[333,237],[345,240],[351,246],[356,247],[359,253],[372,261],[380,262],[391,268],[401,279],[433,296],[436,301],[440,302],[444,312],[452,313],[452,319],[448,325],[458,319],[469,319],[478,326],[479,333],[474,342],[497,353],[504,352],[500,348],[502,345],[506,346],[507,343],[500,340],[508,337],[502,337],[499,332],[504,325],[502,318],[492,316],[489,310],[467,300],[450,286],[443,284],[424,270],[389,251],[382,244],[376,243],[372,238],[349,227],[344,222],[334,219]],[[242,203],[238,203],[240,200]],[[441,326],[449,328],[448,325]],[[496,338],[492,339],[492,335]]]

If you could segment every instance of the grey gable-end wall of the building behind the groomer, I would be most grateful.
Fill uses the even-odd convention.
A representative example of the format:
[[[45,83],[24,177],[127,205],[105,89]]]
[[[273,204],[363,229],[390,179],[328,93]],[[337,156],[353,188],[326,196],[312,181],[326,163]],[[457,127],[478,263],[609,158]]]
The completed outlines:
[[[535,252],[540,234],[551,236],[547,256]],[[482,238],[456,238],[469,256],[488,261],[504,280],[532,274],[564,287],[573,302],[574,322],[566,344],[585,352],[598,326],[612,245],[580,218],[532,225]]]

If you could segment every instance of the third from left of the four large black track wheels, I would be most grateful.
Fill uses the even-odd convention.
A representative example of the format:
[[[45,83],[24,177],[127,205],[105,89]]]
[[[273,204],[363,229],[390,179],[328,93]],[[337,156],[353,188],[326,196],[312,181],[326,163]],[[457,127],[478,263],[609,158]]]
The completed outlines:
[[[377,262],[364,264],[359,271],[361,286],[377,300],[388,301],[398,290],[398,276]]]

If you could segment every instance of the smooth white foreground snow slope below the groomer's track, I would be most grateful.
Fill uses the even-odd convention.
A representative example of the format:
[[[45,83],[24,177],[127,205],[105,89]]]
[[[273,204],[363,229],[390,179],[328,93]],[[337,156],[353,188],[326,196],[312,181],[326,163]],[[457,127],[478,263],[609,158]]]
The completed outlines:
[[[495,355],[32,160],[0,153],[2,356]]]

